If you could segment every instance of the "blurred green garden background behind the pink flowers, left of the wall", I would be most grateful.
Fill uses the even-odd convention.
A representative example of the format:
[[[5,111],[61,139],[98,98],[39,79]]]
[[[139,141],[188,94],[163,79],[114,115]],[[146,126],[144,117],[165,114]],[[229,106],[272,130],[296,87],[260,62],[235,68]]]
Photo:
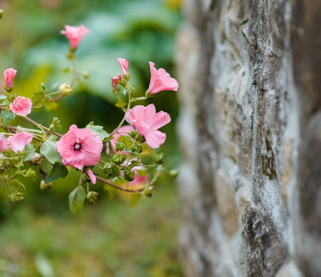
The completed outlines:
[[[57,116],[65,133],[94,121],[111,132],[123,117],[115,107],[110,78],[120,73],[116,58],[129,61],[136,96],[143,96],[150,80],[148,61],[175,77],[173,48],[182,0],[0,0],[0,71],[17,70],[14,90],[31,97],[42,82],[55,91],[70,83],[66,59],[68,40],[59,33],[65,25],[85,25],[91,32],[76,51],[77,70],[90,78],[73,93],[30,117],[48,126]],[[4,79],[0,78],[0,87]],[[172,122],[162,128],[167,141],[165,167],[177,168],[180,156],[175,137],[178,103],[173,91],[159,93],[139,104],[154,103]],[[15,124],[26,126],[19,119]],[[176,184],[168,178],[152,198],[135,207],[122,197],[110,200],[97,183],[96,204],[72,215],[68,194],[76,186],[72,170],[50,191],[39,189],[40,178],[26,181],[26,199],[12,203],[0,183],[0,276],[135,277],[182,276],[178,262],[180,223]]]

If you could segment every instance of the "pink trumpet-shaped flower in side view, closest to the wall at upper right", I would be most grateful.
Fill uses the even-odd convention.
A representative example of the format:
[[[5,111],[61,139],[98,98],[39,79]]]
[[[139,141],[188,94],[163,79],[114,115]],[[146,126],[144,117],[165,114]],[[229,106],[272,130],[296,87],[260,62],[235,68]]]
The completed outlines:
[[[162,90],[174,90],[177,91],[178,83],[177,81],[170,77],[170,75],[165,71],[164,68],[159,68],[156,70],[154,67],[155,63],[149,62],[150,67],[150,83],[147,89],[147,93],[156,94]]]

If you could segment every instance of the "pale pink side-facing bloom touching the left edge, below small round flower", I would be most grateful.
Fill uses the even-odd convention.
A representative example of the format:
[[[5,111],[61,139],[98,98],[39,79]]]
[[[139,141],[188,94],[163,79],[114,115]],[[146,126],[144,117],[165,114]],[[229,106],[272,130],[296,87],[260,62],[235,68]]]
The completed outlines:
[[[33,134],[28,132],[21,132],[5,138],[0,134],[0,151],[4,152],[11,148],[15,153],[23,151],[27,144],[31,143]]]

